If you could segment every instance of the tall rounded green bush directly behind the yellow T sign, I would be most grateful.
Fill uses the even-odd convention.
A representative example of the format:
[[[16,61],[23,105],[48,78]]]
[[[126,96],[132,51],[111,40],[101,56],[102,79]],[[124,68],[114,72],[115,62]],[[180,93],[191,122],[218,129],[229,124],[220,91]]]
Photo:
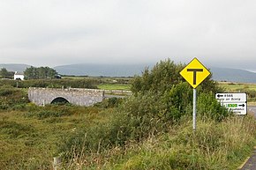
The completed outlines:
[[[135,95],[122,109],[143,121],[159,119],[161,122],[178,122],[183,115],[192,115],[192,86],[179,74],[185,67],[165,60],[156,63],[152,70],[146,68],[141,76],[134,78],[132,92]],[[211,76],[197,87],[198,114],[216,121],[228,116],[228,111],[215,100],[215,92],[222,92]],[[206,97],[207,96],[207,97]]]

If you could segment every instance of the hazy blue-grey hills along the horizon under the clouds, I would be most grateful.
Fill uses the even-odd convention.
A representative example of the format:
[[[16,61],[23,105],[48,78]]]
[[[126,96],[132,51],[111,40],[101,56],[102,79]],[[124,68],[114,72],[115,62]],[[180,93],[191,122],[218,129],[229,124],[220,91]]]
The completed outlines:
[[[152,67],[153,65],[149,65]],[[0,68],[6,68],[11,71],[24,71],[30,65],[27,64],[0,64]],[[147,67],[144,64],[71,64],[56,66],[54,69],[62,75],[74,76],[104,76],[104,77],[133,77],[141,75],[142,71]],[[217,81],[256,83],[256,73],[228,68],[211,67],[213,78]]]

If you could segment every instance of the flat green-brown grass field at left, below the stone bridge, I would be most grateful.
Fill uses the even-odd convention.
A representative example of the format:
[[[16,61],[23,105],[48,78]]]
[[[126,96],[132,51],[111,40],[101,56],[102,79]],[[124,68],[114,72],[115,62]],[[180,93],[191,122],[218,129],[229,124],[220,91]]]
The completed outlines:
[[[0,169],[50,169],[57,147],[80,129],[104,122],[97,107],[28,105],[0,111]]]

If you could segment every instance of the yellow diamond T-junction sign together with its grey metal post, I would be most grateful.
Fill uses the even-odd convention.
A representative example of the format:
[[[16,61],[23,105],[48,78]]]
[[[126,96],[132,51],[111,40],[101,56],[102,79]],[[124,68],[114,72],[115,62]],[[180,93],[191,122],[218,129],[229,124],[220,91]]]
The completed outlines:
[[[197,58],[187,64],[184,70],[179,73],[193,87],[193,113],[192,113],[192,129],[196,130],[196,115],[197,115],[197,91],[196,87],[204,81],[211,73],[207,68],[200,63]]]

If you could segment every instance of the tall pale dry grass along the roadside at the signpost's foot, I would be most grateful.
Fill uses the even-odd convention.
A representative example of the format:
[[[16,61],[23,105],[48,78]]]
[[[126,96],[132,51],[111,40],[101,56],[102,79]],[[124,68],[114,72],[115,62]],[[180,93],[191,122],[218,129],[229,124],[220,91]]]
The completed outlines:
[[[250,115],[223,122],[201,118],[197,125],[192,132],[191,119],[184,117],[169,132],[139,144],[130,141],[101,153],[74,152],[68,169],[236,169],[255,144],[256,123]]]

